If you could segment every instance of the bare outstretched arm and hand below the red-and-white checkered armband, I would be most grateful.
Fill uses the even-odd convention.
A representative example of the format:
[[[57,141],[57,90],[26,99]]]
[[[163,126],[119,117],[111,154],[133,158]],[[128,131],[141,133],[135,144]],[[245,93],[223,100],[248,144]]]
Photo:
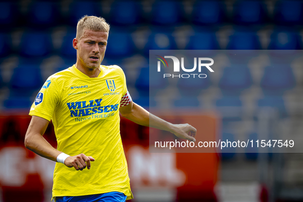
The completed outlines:
[[[136,124],[169,131],[175,134],[177,137],[196,142],[195,136],[197,130],[189,124],[171,124],[149,113],[143,107],[133,102],[130,102],[126,106],[120,107],[119,111],[123,117]]]

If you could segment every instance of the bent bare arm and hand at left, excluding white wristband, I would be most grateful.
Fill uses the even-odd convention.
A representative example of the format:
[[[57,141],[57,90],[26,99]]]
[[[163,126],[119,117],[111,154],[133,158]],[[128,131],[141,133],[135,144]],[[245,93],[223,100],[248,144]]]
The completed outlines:
[[[48,158],[53,161],[57,161],[57,156],[62,153],[53,148],[47,140],[42,136],[46,131],[49,124],[47,119],[38,116],[32,116],[30,125],[25,135],[25,147],[36,154]],[[76,170],[83,170],[88,167],[90,169],[90,161],[95,159],[91,156],[79,154],[76,156],[69,156],[65,159],[64,164]]]

